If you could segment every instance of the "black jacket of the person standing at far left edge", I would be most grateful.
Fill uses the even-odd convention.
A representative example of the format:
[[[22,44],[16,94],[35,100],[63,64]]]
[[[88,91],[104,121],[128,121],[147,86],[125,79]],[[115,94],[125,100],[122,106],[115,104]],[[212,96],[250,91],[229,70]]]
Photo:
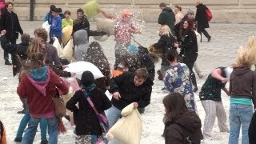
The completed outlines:
[[[6,38],[10,41],[16,41],[18,33],[23,34],[17,14],[14,12],[1,14],[0,31],[2,30],[6,30]]]

